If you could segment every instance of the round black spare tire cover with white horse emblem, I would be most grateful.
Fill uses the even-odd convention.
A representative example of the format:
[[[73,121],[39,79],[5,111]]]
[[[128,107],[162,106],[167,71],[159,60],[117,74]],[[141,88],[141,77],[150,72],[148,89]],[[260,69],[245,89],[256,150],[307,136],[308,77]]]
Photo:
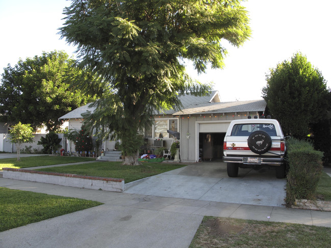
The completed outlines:
[[[262,130],[252,132],[247,140],[249,149],[257,154],[263,154],[269,151],[271,143],[270,135]]]

